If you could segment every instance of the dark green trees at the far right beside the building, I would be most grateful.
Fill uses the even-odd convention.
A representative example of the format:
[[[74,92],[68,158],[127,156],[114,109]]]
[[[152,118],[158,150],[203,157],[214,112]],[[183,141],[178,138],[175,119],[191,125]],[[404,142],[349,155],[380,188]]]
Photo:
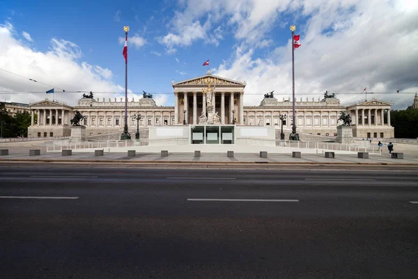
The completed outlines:
[[[390,122],[395,130],[395,137],[418,137],[418,110],[393,110],[390,112]]]

